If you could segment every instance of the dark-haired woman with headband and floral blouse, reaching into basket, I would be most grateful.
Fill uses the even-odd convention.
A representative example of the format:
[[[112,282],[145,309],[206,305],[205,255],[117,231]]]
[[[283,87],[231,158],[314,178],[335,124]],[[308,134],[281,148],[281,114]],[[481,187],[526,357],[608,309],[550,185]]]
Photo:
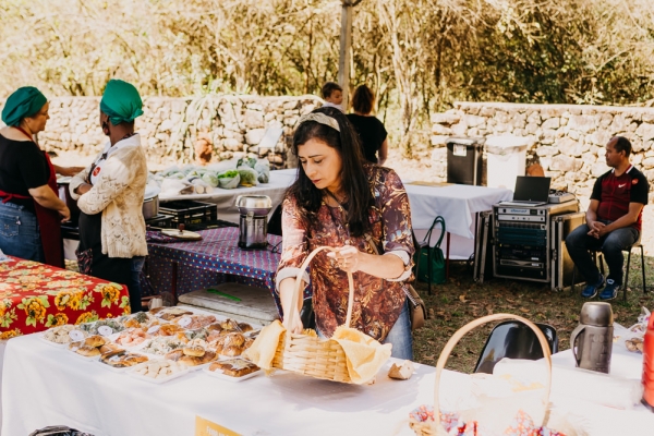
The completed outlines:
[[[407,301],[414,252],[409,198],[398,174],[365,162],[346,116],[320,108],[302,117],[293,136],[301,167],[283,201],[282,255],[277,287],[284,325],[302,330],[300,307],[290,307],[299,267],[320,252],[302,280],[311,282],[318,334],[344,324],[348,277],[354,277],[351,327],[392,343],[392,356],[412,359]]]

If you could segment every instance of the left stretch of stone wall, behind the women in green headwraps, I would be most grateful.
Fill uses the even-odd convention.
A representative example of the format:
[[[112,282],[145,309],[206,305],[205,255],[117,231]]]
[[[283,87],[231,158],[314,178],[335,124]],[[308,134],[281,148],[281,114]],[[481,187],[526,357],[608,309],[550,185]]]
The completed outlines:
[[[256,145],[266,128],[280,126],[284,134],[276,150],[262,150],[261,155],[282,167],[287,165],[287,141],[295,122],[322,101],[315,96],[148,97],[135,128],[147,147],[150,169],[159,169],[195,161],[198,140],[210,147],[211,161],[239,153],[258,154]],[[50,120],[38,135],[39,144],[57,153],[96,155],[107,141],[99,126],[99,102],[100,97],[52,98]],[[3,104],[0,100],[0,110]]]

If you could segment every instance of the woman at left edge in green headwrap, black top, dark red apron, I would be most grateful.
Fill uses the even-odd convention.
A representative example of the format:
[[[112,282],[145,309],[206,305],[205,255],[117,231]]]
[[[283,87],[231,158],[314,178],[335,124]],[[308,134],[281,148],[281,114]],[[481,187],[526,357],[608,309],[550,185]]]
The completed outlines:
[[[57,195],[48,154],[34,142],[46,129],[49,104],[35,87],[16,89],[2,108],[0,130],[0,249],[3,253],[63,267],[60,221],[71,213]]]

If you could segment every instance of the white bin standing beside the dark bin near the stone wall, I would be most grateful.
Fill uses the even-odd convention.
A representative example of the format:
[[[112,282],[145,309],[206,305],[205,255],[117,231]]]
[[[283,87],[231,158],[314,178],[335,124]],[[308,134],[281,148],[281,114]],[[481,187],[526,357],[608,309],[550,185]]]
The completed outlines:
[[[516,189],[518,175],[524,175],[526,138],[488,136],[486,138],[486,184],[489,187]]]

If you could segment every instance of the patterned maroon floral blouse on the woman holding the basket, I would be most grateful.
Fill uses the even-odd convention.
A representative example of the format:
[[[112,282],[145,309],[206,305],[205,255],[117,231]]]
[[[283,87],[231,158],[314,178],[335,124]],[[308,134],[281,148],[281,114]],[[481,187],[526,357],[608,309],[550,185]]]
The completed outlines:
[[[370,214],[372,229],[364,237],[350,238],[343,226],[344,214],[339,207],[323,203],[317,219],[305,226],[295,198],[284,199],[282,253],[277,268],[277,283],[284,278],[296,277],[299,267],[314,249],[322,245],[340,247],[346,245],[346,241],[362,252],[391,253],[402,258],[404,266],[411,264],[415,249],[409,197],[404,186],[391,169],[373,165],[364,168],[375,197],[375,206]],[[371,243],[375,244],[377,251]],[[325,336],[331,337],[336,328],[346,322],[349,287],[347,272],[327,257],[327,253],[318,253],[308,269],[317,327]],[[365,272],[354,272],[351,327],[377,340],[384,340],[400,316],[405,301],[403,288],[410,275],[408,269],[397,279],[380,279]],[[308,281],[306,275],[304,279]]]

